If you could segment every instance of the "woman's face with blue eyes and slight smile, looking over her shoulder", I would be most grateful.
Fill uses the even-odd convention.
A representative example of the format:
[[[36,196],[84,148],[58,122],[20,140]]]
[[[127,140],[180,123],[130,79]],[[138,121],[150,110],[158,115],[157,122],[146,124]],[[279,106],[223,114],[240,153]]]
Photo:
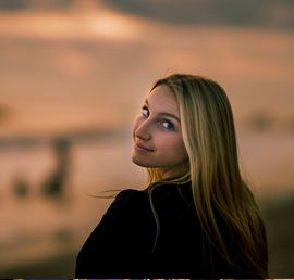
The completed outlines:
[[[162,178],[182,175],[187,152],[183,142],[179,104],[171,89],[161,85],[146,98],[134,128],[132,160],[157,168]]]

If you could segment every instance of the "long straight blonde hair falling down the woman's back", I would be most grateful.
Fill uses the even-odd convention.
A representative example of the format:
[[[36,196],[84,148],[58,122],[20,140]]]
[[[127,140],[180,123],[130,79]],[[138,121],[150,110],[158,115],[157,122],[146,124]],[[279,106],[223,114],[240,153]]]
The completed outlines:
[[[225,222],[238,257],[250,269],[247,272],[268,278],[265,226],[255,199],[241,176],[233,114],[224,90],[211,79],[184,74],[159,79],[151,90],[160,85],[169,86],[176,97],[189,158],[189,170],[169,183],[191,181],[208,256],[211,250],[217,250],[232,271],[241,269],[224,242],[217,214]],[[148,168],[148,173],[151,194],[163,181],[155,168]],[[160,224],[151,195],[150,203],[159,233]],[[213,270],[213,259],[210,259],[210,269]]]

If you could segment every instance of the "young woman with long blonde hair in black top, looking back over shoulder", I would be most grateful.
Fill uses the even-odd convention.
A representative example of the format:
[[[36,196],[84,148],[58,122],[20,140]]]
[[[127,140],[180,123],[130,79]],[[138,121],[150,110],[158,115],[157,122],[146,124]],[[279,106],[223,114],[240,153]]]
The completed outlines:
[[[223,89],[194,75],[159,79],[133,138],[148,187],[118,194],[77,257],[76,278],[268,278],[265,226],[241,177]]]

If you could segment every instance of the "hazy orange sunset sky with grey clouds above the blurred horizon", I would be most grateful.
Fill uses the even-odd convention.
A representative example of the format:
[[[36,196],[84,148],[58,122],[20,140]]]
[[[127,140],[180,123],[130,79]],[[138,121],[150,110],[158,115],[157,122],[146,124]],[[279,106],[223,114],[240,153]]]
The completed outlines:
[[[122,4],[123,3],[123,4]],[[291,1],[0,1],[0,136],[130,127],[152,81],[219,81],[241,126],[294,119]]]

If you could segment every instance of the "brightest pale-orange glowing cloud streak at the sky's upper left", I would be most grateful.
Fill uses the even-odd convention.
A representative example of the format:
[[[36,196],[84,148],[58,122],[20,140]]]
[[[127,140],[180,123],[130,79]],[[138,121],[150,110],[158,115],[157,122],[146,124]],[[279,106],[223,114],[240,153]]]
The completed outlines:
[[[132,17],[108,10],[87,13],[0,13],[0,35],[41,39],[132,39],[138,26]]]

